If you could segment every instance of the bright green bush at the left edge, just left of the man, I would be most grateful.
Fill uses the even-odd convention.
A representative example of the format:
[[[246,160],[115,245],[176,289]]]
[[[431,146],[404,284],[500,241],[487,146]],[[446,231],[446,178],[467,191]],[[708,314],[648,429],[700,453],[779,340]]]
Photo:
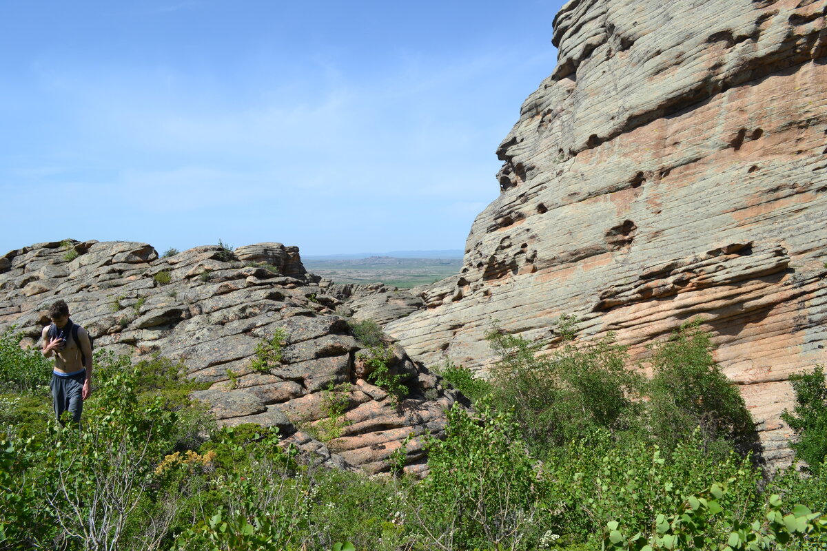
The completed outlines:
[[[0,392],[43,395],[49,390],[51,362],[38,349],[22,349],[23,336],[13,325],[0,335]]]

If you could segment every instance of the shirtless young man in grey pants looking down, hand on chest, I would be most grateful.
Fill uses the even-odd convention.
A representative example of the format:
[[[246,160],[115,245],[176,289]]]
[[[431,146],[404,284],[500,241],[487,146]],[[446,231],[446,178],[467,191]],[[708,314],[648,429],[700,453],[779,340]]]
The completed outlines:
[[[72,321],[69,320],[69,306],[65,301],[57,301],[49,309],[49,317],[57,328],[56,335],[50,338],[51,325],[43,328],[43,355],[51,358],[55,355],[55,370],[52,372],[50,387],[55,416],[60,420],[64,411],[72,414],[75,423],[80,422],[84,409],[84,400],[92,394],[92,345],[89,335],[83,327],[78,327],[78,340],[72,338]],[[81,361],[81,352],[86,364]]]

